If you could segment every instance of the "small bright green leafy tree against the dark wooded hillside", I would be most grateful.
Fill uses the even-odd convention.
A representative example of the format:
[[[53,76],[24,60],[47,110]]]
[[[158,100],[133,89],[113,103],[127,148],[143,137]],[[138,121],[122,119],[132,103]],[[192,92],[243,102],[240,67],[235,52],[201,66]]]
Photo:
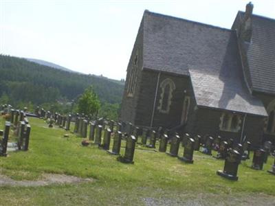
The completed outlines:
[[[98,95],[94,92],[93,87],[85,89],[84,93],[80,95],[78,100],[78,113],[84,113],[85,115],[94,115],[100,108],[100,102]]]

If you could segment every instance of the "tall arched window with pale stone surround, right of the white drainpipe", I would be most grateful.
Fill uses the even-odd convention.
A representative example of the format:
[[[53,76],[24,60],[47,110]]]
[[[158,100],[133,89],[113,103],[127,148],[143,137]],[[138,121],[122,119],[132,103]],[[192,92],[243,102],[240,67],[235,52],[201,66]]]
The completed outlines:
[[[161,94],[159,98],[159,106],[157,107],[161,113],[169,113],[175,83],[170,78],[166,78],[160,84]]]

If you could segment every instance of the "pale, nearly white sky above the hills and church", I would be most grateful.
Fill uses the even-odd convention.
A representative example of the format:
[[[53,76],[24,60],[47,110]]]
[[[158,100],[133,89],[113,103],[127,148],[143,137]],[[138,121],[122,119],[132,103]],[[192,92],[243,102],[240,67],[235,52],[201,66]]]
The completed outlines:
[[[36,58],[74,71],[126,78],[144,10],[230,28],[243,0],[0,0],[0,54]],[[254,0],[275,19],[275,0]]]

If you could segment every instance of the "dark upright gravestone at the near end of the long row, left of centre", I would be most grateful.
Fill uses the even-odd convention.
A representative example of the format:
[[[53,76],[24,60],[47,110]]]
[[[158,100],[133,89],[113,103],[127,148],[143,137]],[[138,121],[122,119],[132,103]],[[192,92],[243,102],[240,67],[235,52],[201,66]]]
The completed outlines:
[[[133,135],[127,137],[124,156],[118,157],[118,161],[122,163],[133,163],[133,155],[135,153],[135,137]]]

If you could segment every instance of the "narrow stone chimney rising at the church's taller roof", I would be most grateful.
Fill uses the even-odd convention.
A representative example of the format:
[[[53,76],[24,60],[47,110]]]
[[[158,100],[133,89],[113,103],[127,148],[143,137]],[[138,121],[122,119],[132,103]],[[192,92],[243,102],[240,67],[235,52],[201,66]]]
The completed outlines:
[[[245,16],[241,23],[241,39],[243,41],[250,43],[252,37],[252,12],[253,12],[253,4],[248,3],[245,8]]]

